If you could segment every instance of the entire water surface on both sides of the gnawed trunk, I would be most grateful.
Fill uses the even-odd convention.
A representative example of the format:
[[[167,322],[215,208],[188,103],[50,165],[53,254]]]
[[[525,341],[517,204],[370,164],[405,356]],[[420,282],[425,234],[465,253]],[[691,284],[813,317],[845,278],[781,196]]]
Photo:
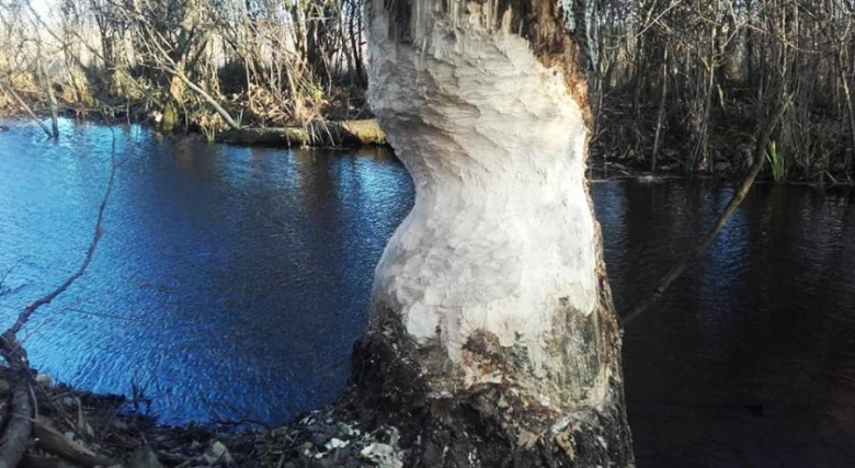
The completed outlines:
[[[12,315],[80,262],[111,130],[0,134]],[[121,168],[87,273],[39,310],[35,365],[95,391],[136,381],[167,422],[280,423],[339,392],[374,265],[412,203],[385,151],[286,151],[115,130]],[[596,183],[618,307],[727,203],[714,183]],[[855,198],[757,186],[704,260],[625,335],[641,467],[855,466]],[[1,326],[2,323],[0,323]],[[3,326],[4,328],[5,326]]]

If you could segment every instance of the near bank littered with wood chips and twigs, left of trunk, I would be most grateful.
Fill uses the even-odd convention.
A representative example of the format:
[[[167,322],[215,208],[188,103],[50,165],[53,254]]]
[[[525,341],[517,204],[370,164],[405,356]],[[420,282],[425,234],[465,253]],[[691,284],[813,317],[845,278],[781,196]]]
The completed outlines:
[[[12,380],[0,368],[0,397]],[[167,426],[148,415],[144,395],[95,395],[54,384],[33,372],[37,402],[36,444],[23,467],[401,467],[400,434],[394,427],[366,431],[346,399],[269,427],[253,421],[214,421]],[[0,418],[10,418],[9,406]]]

